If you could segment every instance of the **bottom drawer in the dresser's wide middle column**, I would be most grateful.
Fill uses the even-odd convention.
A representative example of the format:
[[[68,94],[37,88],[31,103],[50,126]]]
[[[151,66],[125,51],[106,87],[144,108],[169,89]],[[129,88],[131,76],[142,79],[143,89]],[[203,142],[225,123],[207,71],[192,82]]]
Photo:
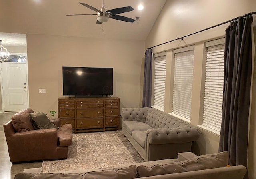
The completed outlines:
[[[77,128],[103,127],[103,118],[98,119],[77,119]]]

